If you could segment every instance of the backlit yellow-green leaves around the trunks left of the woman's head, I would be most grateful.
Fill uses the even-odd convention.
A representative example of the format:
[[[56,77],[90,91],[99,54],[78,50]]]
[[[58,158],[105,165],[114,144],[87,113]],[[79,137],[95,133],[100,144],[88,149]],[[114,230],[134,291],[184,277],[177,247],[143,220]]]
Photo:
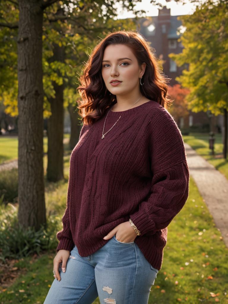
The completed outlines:
[[[92,48],[98,38],[106,36],[109,31],[120,29],[136,29],[132,20],[117,20],[115,9],[116,0],[112,5],[98,0],[92,2],[69,0],[56,1],[44,10],[43,18],[43,89],[44,103],[43,116],[51,115],[49,98],[55,98],[54,84],[64,85],[64,106],[76,100],[78,79],[82,73],[83,64],[88,60]],[[138,0],[140,2],[140,0]],[[130,9],[136,14],[145,12],[136,10],[132,1],[123,2],[123,9]],[[0,17],[5,24],[17,24],[19,20],[19,7],[17,2],[0,2]],[[4,23],[4,22],[3,22]],[[18,115],[17,95],[17,28],[0,26],[0,65],[4,66],[0,75],[0,91],[5,112],[12,116]],[[55,52],[58,50],[58,52]],[[56,58],[56,54],[62,55]],[[71,90],[71,98],[67,93]],[[66,91],[66,92],[65,92]]]

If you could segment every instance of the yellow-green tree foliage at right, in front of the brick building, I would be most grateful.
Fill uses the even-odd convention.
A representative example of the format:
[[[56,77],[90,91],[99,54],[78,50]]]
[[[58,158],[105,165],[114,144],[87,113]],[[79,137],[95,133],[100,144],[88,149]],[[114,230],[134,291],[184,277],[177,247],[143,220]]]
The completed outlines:
[[[181,54],[170,54],[178,66],[189,64],[179,81],[189,88],[186,100],[193,112],[210,110],[215,115],[228,110],[228,3],[206,0],[194,14],[178,17],[185,32]]]

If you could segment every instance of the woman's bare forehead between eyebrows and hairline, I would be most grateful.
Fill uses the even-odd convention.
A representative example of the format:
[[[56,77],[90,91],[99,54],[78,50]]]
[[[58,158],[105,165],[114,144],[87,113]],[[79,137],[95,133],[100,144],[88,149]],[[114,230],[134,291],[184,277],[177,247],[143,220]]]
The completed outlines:
[[[130,47],[124,44],[110,44],[105,48],[103,60],[117,60],[118,58],[128,57],[131,60],[136,59]]]

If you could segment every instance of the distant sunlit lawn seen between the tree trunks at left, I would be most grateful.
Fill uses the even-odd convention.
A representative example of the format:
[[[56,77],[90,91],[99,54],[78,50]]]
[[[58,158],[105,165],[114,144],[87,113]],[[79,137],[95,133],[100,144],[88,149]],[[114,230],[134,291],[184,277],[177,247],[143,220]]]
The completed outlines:
[[[64,139],[70,134],[64,134]],[[47,153],[47,137],[43,137],[43,152]],[[18,136],[0,136],[0,164],[18,158]]]

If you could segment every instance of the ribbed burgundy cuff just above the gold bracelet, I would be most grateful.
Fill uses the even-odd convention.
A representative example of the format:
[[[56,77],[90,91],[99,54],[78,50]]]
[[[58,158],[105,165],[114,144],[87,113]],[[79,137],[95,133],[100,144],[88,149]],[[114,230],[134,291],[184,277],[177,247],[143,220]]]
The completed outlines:
[[[145,213],[143,209],[130,214],[130,219],[137,227],[137,229],[141,232],[141,235],[147,232],[152,232],[155,228],[154,221],[149,219],[149,215]]]

